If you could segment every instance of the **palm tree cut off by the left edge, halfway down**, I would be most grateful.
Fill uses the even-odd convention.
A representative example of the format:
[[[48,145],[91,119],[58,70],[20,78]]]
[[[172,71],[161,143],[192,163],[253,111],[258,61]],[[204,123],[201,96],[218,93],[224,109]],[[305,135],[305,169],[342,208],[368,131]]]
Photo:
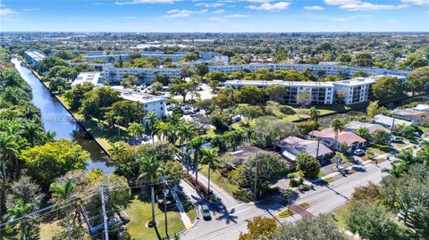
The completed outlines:
[[[3,178],[6,180],[6,165],[13,161],[19,153],[20,145],[16,143],[15,137],[6,132],[0,134],[0,159],[2,160]]]

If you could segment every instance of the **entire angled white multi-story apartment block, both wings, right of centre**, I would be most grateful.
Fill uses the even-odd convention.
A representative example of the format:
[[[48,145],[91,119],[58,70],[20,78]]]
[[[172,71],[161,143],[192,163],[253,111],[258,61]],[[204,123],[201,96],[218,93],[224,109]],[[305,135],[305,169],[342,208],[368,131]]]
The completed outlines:
[[[363,103],[368,101],[371,95],[371,86],[383,76],[368,78],[356,78],[337,82],[299,82],[299,81],[255,81],[255,80],[228,80],[226,87],[240,88],[243,86],[267,87],[273,84],[282,84],[288,88],[283,97],[283,103],[296,104],[297,95],[303,91],[311,94],[311,101],[315,104],[332,104],[335,102],[335,94],[344,92],[345,104]]]

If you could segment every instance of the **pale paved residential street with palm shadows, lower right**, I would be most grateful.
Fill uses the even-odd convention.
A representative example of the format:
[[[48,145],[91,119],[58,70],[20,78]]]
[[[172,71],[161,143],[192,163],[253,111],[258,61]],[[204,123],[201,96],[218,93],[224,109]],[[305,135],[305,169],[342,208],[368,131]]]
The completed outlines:
[[[368,181],[380,183],[382,177],[386,174],[382,172],[383,168],[389,169],[390,167],[390,161],[383,161],[379,166],[375,166],[374,164],[362,166],[361,171],[357,171],[348,177],[340,178],[327,186],[315,186],[315,190],[299,194],[299,198],[295,203],[310,203],[311,207],[307,211],[313,214],[331,212],[349,200],[355,187],[364,186]],[[201,182],[206,184],[206,178],[199,176],[198,178],[201,179]],[[240,232],[247,231],[246,220],[257,216],[273,217],[283,208],[279,203],[273,205],[236,203],[234,205],[231,195],[219,189],[218,186],[212,187],[214,193],[225,201],[224,204],[227,207],[214,208],[211,206],[213,219],[210,221],[198,219],[193,228],[190,228],[181,235],[181,239],[236,240]],[[187,190],[185,190],[185,193],[189,194]],[[235,200],[235,202],[238,201]],[[290,218],[281,219],[280,221],[293,221],[299,218],[300,216],[295,214]]]

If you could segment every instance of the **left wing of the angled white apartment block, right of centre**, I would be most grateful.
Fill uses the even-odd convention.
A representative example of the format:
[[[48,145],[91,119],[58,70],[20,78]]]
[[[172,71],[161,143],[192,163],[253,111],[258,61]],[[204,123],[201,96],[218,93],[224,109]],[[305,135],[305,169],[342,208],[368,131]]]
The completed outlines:
[[[257,80],[229,80],[225,82],[226,87],[239,89],[244,86],[267,87],[273,84],[282,84],[288,88],[283,103],[296,104],[297,95],[307,91],[310,93],[312,103],[319,105],[330,105],[333,101],[334,85],[331,82],[299,82],[299,81],[257,81]]]

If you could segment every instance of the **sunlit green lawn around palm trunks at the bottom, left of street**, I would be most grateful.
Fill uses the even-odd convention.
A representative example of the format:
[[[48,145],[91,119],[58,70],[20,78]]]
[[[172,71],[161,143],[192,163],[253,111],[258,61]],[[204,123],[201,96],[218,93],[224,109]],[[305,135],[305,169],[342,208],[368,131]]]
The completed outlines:
[[[158,226],[158,232],[161,235],[161,237],[165,237],[164,212],[161,209],[159,209],[157,205],[156,205],[155,211],[156,211],[156,222]],[[136,198],[131,201],[128,208],[125,209],[125,212],[128,214],[130,218],[130,223],[127,225],[127,229],[128,229],[128,232],[130,233],[130,236],[133,239],[136,239],[136,240],[157,239],[155,229],[146,227],[147,221],[151,219],[150,203],[142,202]],[[189,215],[194,216],[193,219],[195,219],[195,211],[193,211],[193,213],[190,213]],[[168,233],[170,236],[173,236],[174,233],[179,233],[181,232],[181,230],[185,229],[185,226],[181,221],[181,214],[176,209],[172,211],[167,211],[167,219],[168,219]]]

